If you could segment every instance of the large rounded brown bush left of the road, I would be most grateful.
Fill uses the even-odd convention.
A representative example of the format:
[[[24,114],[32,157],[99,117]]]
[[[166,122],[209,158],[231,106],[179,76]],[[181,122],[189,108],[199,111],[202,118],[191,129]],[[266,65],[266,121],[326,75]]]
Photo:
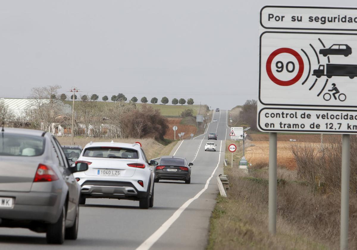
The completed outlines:
[[[122,119],[122,128],[127,137],[149,138],[164,140],[167,118],[151,106],[142,105],[140,109],[126,113]]]

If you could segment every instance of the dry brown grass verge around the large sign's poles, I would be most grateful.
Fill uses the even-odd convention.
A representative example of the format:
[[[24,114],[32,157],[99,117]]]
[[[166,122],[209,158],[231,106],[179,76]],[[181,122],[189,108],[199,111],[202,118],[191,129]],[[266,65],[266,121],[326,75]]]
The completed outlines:
[[[296,172],[278,171],[277,235],[268,233],[268,170],[239,177],[230,167],[228,198],[218,197],[207,249],[338,249],[340,195],[313,195]],[[357,246],[357,198],[350,200],[350,249]]]

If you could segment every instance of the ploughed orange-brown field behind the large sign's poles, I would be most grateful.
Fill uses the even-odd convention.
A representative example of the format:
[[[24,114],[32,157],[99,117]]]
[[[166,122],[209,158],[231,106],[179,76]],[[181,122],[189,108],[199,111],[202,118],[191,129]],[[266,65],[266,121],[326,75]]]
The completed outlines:
[[[269,134],[250,134],[251,141],[245,150],[245,156],[252,165],[263,164],[268,166],[269,162]],[[291,142],[290,139],[296,140]],[[341,135],[323,135],[323,142],[341,140]],[[286,169],[295,170],[296,161],[291,152],[291,146],[295,143],[309,143],[315,147],[320,147],[320,134],[278,134],[277,143],[277,165]],[[249,146],[249,144],[251,146]]]

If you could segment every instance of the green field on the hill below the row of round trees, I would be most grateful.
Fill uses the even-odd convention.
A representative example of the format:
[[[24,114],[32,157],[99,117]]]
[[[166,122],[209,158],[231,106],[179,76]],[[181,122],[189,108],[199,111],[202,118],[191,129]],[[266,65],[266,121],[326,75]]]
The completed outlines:
[[[80,101],[75,101],[75,105],[76,103],[78,103]],[[104,105],[113,105],[114,102],[104,102],[104,101],[97,101],[98,105],[100,107],[104,107]],[[72,106],[72,101],[65,101],[65,104],[69,104],[70,106]],[[136,103],[136,105],[143,105],[141,103]],[[193,116],[196,116],[198,114],[198,110],[200,109],[200,105],[160,105],[160,104],[146,104],[146,105],[150,105],[152,106],[154,109],[159,109],[161,114],[163,116],[166,117],[178,117],[182,111],[186,110],[186,109],[193,109]],[[201,105],[201,111],[200,114],[207,114],[208,111],[208,106],[207,105]]]

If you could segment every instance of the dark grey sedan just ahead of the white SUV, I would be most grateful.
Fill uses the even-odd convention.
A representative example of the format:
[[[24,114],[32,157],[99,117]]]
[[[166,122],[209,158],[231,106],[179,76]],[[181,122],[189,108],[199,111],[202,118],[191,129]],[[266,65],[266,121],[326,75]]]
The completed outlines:
[[[155,167],[155,182],[159,180],[183,180],[191,183],[191,166],[186,158],[178,156],[161,156]]]

